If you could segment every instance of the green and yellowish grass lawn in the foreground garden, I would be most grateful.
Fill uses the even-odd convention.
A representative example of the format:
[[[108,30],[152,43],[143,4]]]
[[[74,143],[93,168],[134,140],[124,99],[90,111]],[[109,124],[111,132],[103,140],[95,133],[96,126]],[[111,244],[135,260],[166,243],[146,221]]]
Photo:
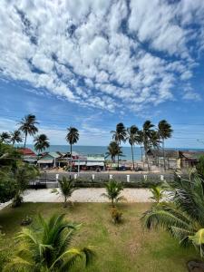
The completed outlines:
[[[149,203],[122,203],[123,222],[113,225],[108,203],[74,203],[63,209],[61,203],[24,203],[17,209],[0,211],[0,225],[6,242],[4,248],[11,253],[15,248],[12,239],[21,229],[20,222],[26,216],[36,218],[38,213],[49,217],[53,213],[65,213],[67,219],[83,223],[73,245],[95,246],[97,258],[89,272],[181,272],[187,271],[186,262],[199,258],[194,248],[180,248],[177,241],[163,232],[147,231],[141,227],[141,213],[149,209]],[[82,271],[75,267],[74,272]]]

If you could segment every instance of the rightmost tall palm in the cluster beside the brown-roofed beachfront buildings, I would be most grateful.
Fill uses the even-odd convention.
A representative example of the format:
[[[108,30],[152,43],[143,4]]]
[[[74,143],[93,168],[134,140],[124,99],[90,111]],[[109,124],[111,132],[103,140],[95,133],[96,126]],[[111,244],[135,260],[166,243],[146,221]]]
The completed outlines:
[[[173,130],[171,129],[170,123],[167,122],[166,120],[161,120],[159,122],[158,129],[159,129],[158,132],[159,132],[159,135],[160,135],[160,139],[162,141],[163,167],[164,167],[164,170],[166,170],[166,160],[165,160],[165,151],[164,151],[164,140],[171,137]]]

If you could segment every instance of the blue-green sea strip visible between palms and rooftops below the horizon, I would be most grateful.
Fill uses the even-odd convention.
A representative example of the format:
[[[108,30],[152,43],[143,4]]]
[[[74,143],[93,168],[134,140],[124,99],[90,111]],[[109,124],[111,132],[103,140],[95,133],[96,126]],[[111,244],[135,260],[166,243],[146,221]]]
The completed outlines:
[[[22,145],[21,145],[22,146]],[[32,149],[34,151],[34,145],[27,144],[26,147]],[[131,147],[125,146],[122,147],[122,153],[123,157],[121,157],[122,160],[131,160]],[[180,150],[180,151],[203,151],[201,149],[189,149],[189,148],[175,148],[174,150]],[[46,151],[62,151],[67,152],[70,151],[69,145],[51,145],[49,149]],[[85,146],[85,145],[73,145],[73,151],[80,153],[82,155],[87,154],[104,154],[107,152],[106,146]],[[134,160],[141,160],[141,148],[138,146],[135,146],[133,148],[134,152]]]

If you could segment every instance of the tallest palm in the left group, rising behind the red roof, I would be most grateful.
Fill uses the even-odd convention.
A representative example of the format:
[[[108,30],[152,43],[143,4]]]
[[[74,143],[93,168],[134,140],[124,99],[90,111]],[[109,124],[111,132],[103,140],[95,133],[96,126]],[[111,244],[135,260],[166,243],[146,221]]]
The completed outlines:
[[[34,114],[25,115],[22,121],[20,121],[19,131],[24,132],[24,148],[27,141],[27,135],[34,136],[38,131],[36,124],[38,124],[38,122],[36,121]]]

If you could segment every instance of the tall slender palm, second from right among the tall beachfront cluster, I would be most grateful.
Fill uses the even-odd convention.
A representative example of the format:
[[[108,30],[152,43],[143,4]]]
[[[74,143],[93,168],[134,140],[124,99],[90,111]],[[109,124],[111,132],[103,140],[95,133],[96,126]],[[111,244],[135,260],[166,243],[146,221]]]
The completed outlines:
[[[142,126],[145,160],[148,163],[148,170],[150,170],[150,163],[148,160],[147,151],[151,148],[151,137],[153,133],[153,130],[152,130],[153,127],[154,125],[149,120],[145,121]]]

